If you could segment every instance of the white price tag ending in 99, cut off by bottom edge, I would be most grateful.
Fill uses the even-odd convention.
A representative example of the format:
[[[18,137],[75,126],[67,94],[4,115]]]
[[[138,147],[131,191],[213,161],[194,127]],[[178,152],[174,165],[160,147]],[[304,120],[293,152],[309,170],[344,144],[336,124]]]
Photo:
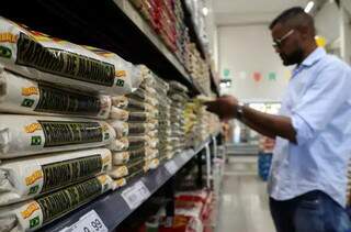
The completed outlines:
[[[95,210],[91,210],[78,222],[60,232],[109,232],[109,230]]]

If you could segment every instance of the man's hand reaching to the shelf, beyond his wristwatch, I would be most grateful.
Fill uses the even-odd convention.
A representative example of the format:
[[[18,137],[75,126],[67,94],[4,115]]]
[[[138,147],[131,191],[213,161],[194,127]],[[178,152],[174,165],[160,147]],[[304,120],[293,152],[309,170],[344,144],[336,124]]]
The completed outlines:
[[[223,96],[215,101],[206,102],[207,110],[216,113],[220,120],[234,119],[237,113],[239,101],[233,96]]]

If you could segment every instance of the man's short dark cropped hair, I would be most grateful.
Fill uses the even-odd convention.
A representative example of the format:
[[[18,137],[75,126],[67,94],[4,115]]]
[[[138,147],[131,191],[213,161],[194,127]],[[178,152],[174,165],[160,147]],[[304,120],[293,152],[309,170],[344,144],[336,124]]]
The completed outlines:
[[[278,23],[291,27],[298,27],[301,25],[308,26],[313,35],[316,34],[314,18],[306,13],[301,7],[294,7],[283,11],[272,21],[270,30],[272,30]]]

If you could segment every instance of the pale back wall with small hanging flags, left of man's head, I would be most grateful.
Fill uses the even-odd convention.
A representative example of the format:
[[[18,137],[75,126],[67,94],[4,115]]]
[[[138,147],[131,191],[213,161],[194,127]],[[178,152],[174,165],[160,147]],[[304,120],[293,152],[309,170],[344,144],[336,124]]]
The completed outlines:
[[[287,86],[286,68],[272,47],[272,38],[267,24],[246,26],[219,26],[219,71],[230,70],[231,87],[224,93],[231,93],[241,101],[280,101]],[[246,79],[240,73],[246,71]],[[260,71],[263,79],[256,82],[253,71]],[[276,80],[268,80],[267,75],[275,71]]]

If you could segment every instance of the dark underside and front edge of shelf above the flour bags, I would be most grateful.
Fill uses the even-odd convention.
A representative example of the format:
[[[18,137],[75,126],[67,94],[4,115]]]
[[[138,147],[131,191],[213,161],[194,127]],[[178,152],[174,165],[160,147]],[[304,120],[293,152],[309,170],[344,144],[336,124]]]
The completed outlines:
[[[26,11],[19,11],[21,5]],[[103,16],[101,16],[103,14]],[[202,90],[128,0],[12,0],[0,15],[76,44],[111,51],[133,64],[145,64],[162,78]]]

